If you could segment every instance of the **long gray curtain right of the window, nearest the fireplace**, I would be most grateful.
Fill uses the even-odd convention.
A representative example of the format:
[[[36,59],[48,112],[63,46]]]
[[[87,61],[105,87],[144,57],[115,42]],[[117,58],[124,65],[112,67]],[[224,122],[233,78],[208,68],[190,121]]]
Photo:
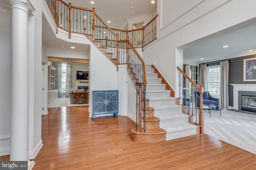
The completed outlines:
[[[220,107],[228,108],[228,61],[220,62]]]

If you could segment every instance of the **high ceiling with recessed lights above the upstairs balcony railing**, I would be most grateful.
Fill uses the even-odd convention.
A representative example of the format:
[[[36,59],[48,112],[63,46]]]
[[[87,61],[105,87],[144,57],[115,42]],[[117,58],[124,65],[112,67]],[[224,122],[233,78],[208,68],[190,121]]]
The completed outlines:
[[[91,4],[91,1],[94,4]],[[110,28],[123,29],[127,19],[142,14],[151,14],[156,10],[156,2],[152,0],[64,0],[70,2],[72,6],[82,8],[95,8],[96,14],[105,22],[110,21]],[[132,7],[132,9],[131,9]]]

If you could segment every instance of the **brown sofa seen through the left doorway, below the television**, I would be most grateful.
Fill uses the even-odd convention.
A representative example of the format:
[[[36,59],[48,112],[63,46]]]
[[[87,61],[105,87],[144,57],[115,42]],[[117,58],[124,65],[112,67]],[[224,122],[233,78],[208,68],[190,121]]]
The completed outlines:
[[[74,92],[73,92],[74,91]],[[70,104],[86,104],[89,103],[89,92],[84,92],[84,89],[71,90],[69,92]]]

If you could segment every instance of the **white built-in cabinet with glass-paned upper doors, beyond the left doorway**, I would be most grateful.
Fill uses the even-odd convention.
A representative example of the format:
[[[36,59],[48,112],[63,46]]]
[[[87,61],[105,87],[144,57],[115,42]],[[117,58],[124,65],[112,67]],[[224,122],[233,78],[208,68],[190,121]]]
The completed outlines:
[[[48,66],[48,103],[58,98],[58,90],[55,90],[55,70],[54,66]]]

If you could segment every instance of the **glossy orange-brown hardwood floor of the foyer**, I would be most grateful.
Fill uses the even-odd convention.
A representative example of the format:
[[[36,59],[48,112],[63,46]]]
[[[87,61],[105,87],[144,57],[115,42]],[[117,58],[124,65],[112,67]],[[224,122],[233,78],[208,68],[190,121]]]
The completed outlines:
[[[256,169],[256,155],[205,134],[135,143],[126,116],[89,118],[88,106],[48,108],[33,170]],[[0,156],[9,160],[9,156]]]

